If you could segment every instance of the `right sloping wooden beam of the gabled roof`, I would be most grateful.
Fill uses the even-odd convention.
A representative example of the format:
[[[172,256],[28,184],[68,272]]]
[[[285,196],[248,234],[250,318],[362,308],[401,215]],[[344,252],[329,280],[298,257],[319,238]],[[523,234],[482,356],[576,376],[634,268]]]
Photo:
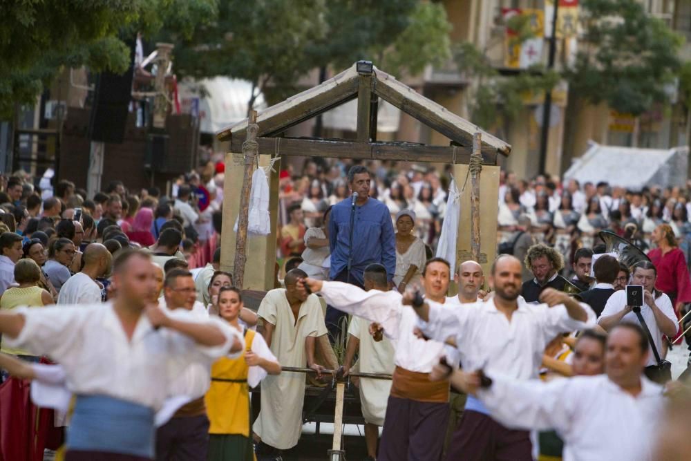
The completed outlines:
[[[480,131],[482,133],[483,153],[494,151],[508,156],[511,152],[510,144],[485,131],[478,130],[475,124],[448,111],[444,106],[428,100],[414,91],[413,88],[402,84],[381,70],[375,70],[373,85],[375,95],[462,146],[471,147],[473,133]]]

